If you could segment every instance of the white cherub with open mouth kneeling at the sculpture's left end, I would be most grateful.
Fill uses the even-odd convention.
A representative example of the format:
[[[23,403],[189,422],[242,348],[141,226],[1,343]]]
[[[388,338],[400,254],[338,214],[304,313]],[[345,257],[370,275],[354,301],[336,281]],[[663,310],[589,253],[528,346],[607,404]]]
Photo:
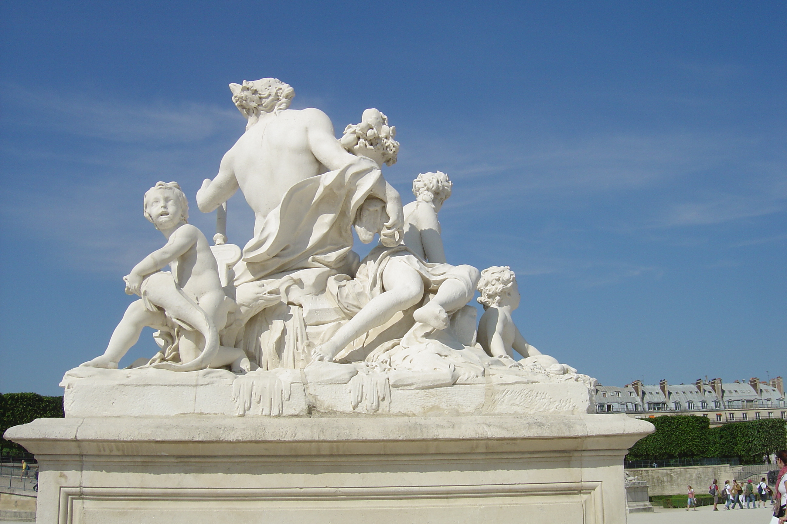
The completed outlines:
[[[123,277],[126,293],[141,299],[128,306],[104,354],[83,366],[117,368],[146,326],[179,333],[176,344],[181,363],[161,361],[153,367],[194,371],[209,366],[241,366],[246,357],[243,351],[219,344],[219,331],[234,304],[221,287],[208,239],[187,222],[188,209],[186,196],[176,182],[157,182],[145,193],[145,218],[164,234],[167,244]],[[161,271],[167,265],[172,273]]]

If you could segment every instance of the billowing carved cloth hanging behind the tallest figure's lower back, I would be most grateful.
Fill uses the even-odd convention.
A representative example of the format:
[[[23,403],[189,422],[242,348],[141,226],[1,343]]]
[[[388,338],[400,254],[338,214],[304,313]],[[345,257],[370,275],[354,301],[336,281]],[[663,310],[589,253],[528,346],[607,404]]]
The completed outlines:
[[[379,168],[364,158],[297,182],[243,248],[235,285],[297,269],[351,272],[357,264],[353,219],[381,183]]]

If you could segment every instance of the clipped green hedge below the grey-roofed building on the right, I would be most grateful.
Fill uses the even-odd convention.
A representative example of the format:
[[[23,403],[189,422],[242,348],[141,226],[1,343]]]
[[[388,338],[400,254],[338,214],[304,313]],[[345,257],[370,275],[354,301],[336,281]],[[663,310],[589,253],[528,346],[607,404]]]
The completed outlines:
[[[783,419],[749,420],[710,427],[708,417],[664,415],[648,419],[656,432],[634,444],[626,460],[679,458],[737,458],[741,464],[760,464],[763,456],[787,449]]]

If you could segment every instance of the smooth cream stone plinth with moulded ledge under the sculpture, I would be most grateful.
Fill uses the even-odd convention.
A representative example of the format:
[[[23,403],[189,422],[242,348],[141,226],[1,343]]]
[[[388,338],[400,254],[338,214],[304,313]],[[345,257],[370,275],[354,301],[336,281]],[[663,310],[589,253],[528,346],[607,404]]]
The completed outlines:
[[[624,524],[626,415],[102,417],[9,429],[39,524]]]

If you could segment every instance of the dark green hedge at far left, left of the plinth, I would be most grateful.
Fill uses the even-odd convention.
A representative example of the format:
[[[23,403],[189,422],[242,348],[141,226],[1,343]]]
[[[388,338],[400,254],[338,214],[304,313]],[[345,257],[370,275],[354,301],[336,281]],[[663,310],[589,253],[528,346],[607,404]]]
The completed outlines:
[[[2,438],[2,434],[9,427],[26,424],[35,419],[64,416],[62,397],[42,397],[37,393],[0,393],[0,454],[28,453],[16,442],[9,442]]]

